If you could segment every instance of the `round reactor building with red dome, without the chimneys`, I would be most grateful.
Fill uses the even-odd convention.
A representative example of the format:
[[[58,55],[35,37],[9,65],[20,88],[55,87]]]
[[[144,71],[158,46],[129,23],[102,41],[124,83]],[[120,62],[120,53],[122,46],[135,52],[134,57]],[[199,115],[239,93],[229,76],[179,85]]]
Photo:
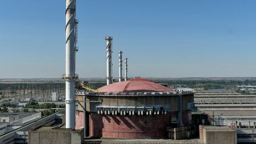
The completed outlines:
[[[86,102],[85,122],[91,137],[166,137],[166,127],[191,124],[194,93],[173,91],[143,78],[98,90],[101,93],[77,93],[79,101],[84,97],[91,101]],[[84,127],[82,111],[82,107],[76,111],[76,129]]]

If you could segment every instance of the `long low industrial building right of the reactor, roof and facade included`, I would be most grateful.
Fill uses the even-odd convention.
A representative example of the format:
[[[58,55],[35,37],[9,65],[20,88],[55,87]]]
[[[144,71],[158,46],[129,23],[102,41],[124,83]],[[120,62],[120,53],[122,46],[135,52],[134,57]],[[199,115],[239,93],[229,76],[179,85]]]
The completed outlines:
[[[256,141],[256,95],[234,91],[196,91],[195,106],[215,126],[228,126],[237,132],[237,142]]]

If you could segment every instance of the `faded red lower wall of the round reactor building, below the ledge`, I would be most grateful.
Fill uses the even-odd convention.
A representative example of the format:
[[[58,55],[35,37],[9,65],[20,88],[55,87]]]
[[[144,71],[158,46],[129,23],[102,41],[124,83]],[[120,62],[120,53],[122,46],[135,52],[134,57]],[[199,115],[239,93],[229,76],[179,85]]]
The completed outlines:
[[[186,113],[185,113],[186,115]],[[171,117],[166,115],[100,115],[90,114],[90,136],[106,138],[154,138],[166,137],[166,127],[177,127]],[[183,118],[187,118],[186,116]]]

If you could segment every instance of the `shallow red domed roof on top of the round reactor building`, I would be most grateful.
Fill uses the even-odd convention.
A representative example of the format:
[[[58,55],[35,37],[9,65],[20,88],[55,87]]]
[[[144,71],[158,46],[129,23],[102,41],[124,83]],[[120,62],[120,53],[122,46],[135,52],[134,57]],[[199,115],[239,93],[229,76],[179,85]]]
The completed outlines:
[[[169,87],[154,83],[145,78],[118,82],[100,87],[101,92],[171,92]]]

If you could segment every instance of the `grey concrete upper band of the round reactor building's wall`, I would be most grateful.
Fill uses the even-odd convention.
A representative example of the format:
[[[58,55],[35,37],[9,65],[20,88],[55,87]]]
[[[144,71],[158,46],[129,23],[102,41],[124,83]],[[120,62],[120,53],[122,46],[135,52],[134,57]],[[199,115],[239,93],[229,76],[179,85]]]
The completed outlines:
[[[83,96],[77,96],[78,100],[83,100]],[[178,95],[156,95],[145,97],[107,97],[107,96],[87,96],[86,100],[90,101],[102,101],[99,102],[86,102],[87,111],[96,111],[96,106],[135,106],[135,107],[167,107],[168,111],[179,110]],[[187,103],[194,101],[193,94],[182,95],[183,110],[187,110]],[[83,103],[81,103],[83,105]],[[83,111],[81,106],[78,106],[78,110]]]

